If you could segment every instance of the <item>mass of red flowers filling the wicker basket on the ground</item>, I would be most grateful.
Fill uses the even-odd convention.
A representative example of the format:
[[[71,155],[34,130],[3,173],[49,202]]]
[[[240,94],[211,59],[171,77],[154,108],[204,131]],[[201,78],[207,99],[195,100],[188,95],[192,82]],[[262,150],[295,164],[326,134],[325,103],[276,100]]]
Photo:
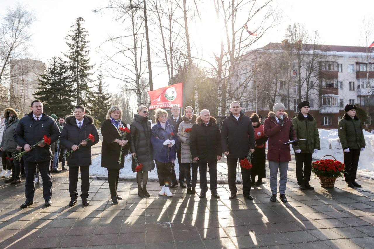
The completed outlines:
[[[345,165],[337,160],[323,159],[312,163],[312,171],[318,176],[339,177],[344,174]]]

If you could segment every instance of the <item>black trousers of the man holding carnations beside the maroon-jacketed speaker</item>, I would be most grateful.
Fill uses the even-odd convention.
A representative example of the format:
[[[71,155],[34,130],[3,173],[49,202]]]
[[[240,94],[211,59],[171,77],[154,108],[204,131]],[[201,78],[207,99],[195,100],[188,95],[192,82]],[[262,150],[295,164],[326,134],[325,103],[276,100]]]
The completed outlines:
[[[229,180],[229,189],[232,194],[236,194],[236,166],[237,160],[242,160],[244,158],[227,158],[227,179]],[[243,181],[243,194],[249,194],[251,191],[251,170],[243,169],[242,170],[242,181]]]

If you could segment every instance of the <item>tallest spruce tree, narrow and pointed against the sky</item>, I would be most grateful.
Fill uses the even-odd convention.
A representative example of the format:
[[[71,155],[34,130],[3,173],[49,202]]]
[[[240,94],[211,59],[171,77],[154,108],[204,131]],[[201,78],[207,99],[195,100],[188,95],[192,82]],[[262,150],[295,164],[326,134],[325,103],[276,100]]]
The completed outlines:
[[[71,26],[73,29],[69,31],[70,33],[65,38],[69,47],[65,56],[70,60],[68,65],[71,80],[74,83],[75,102],[77,105],[89,108],[89,96],[91,95],[89,83],[92,82],[89,76],[92,75],[90,70],[92,70],[93,65],[89,65],[88,31],[82,27],[84,21],[82,17],[78,17]]]

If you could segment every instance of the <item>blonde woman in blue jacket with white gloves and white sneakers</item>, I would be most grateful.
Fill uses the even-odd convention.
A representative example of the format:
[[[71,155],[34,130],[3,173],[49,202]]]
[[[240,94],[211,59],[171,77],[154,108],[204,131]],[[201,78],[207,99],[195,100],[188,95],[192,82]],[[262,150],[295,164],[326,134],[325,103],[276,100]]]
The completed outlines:
[[[153,159],[156,162],[157,175],[161,186],[160,196],[166,194],[171,197],[170,180],[175,154],[179,146],[178,136],[175,134],[174,126],[168,122],[168,113],[157,109],[154,115],[157,125],[151,129],[151,142],[153,146]]]

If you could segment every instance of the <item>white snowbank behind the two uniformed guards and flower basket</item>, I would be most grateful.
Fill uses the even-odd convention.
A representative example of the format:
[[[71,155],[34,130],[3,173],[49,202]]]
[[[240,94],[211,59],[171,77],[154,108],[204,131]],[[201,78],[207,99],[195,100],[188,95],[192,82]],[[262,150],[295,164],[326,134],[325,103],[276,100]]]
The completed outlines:
[[[325,155],[332,155],[336,160],[343,162],[343,149],[338,138],[338,129],[318,129],[319,139],[321,142],[321,150],[317,153],[313,153],[313,159],[321,159]],[[364,137],[366,147],[360,154],[360,160],[358,162],[357,173],[362,176],[366,176],[374,179],[374,135],[364,130]],[[294,150],[291,147],[291,153],[294,154]],[[327,157],[330,158],[331,157]]]

